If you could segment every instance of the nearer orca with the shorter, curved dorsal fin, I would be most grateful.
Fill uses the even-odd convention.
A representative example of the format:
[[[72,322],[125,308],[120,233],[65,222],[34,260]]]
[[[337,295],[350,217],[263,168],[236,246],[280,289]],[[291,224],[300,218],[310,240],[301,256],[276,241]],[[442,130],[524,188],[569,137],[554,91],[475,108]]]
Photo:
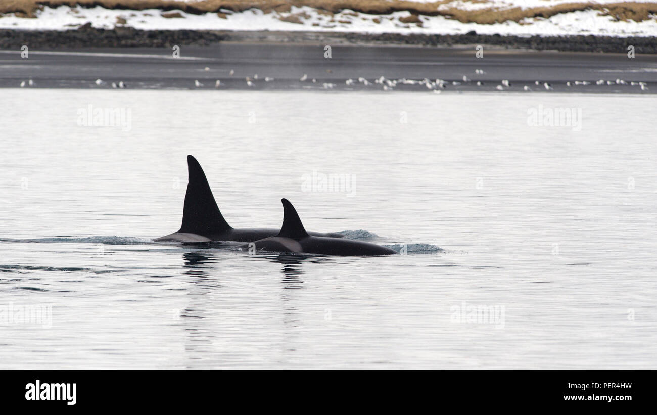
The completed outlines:
[[[357,240],[327,238],[325,236],[312,236],[306,232],[299,219],[294,206],[287,200],[283,202],[283,226],[276,236],[257,240],[252,244],[241,245],[238,248],[256,251],[274,251],[289,253],[315,253],[319,255],[335,256],[364,256],[364,255],[391,255],[397,251]]]

